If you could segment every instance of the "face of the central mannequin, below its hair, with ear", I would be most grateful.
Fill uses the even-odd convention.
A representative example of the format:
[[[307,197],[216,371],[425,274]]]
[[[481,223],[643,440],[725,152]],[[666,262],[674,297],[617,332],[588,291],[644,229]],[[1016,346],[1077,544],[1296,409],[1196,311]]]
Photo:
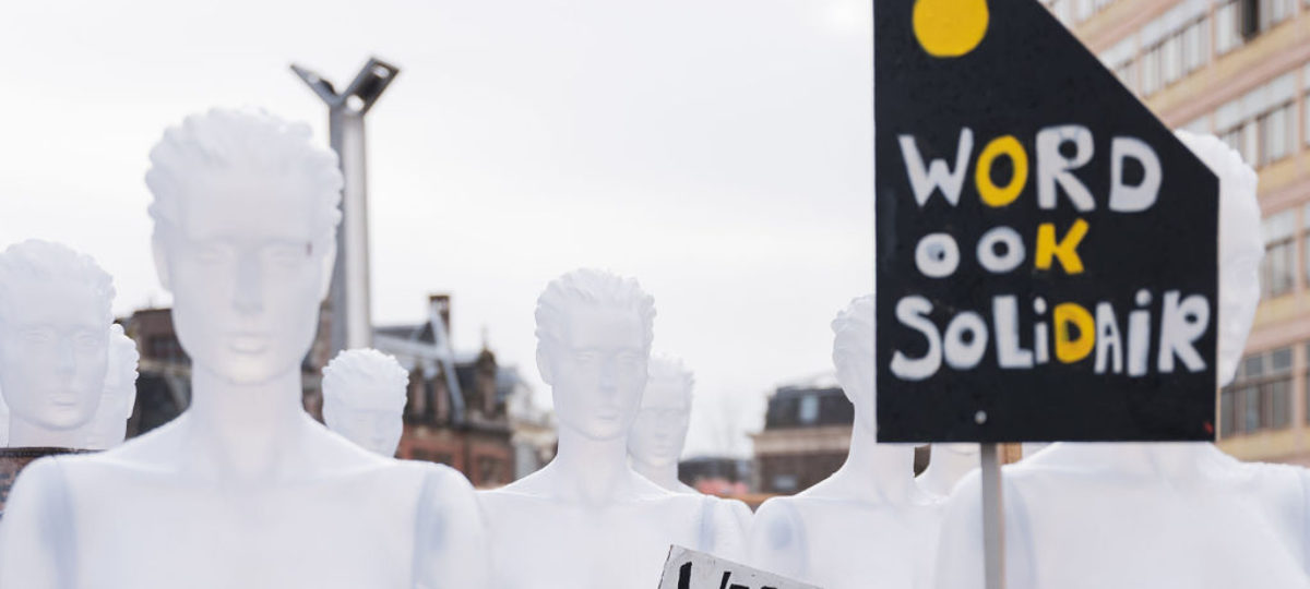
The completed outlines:
[[[637,313],[574,305],[562,331],[538,356],[559,424],[592,440],[626,436],[650,359]]]

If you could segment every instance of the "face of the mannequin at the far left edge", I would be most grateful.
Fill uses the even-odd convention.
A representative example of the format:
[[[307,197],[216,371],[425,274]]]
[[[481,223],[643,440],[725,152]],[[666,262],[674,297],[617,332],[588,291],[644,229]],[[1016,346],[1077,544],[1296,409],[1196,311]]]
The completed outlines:
[[[9,288],[13,300],[0,315],[0,389],[9,411],[45,429],[85,425],[109,364],[105,301],[60,281]]]

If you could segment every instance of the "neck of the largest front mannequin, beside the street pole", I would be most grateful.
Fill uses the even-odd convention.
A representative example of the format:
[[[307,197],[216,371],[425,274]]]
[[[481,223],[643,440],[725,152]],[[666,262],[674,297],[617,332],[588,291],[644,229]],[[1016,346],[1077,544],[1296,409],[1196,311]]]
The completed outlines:
[[[257,384],[233,384],[203,365],[191,370],[190,436],[196,467],[236,480],[270,482],[304,466],[310,425],[299,366]],[[288,459],[292,458],[292,459]]]

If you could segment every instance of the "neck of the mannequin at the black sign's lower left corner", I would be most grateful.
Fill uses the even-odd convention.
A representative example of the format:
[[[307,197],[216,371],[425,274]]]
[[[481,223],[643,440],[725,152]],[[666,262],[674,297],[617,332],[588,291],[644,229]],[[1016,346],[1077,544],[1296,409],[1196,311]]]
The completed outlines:
[[[857,497],[876,503],[905,503],[916,493],[914,446],[878,444],[861,419],[850,433],[850,453],[832,480]]]

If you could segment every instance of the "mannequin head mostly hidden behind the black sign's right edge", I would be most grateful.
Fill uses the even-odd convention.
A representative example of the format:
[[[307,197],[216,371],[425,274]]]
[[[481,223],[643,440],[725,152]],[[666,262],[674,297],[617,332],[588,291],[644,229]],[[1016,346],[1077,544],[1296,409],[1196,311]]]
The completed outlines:
[[[1260,260],[1264,238],[1260,230],[1258,177],[1242,156],[1213,135],[1178,131],[1182,140],[1220,178],[1220,386],[1233,382],[1242,360],[1246,336],[1260,304]]]

